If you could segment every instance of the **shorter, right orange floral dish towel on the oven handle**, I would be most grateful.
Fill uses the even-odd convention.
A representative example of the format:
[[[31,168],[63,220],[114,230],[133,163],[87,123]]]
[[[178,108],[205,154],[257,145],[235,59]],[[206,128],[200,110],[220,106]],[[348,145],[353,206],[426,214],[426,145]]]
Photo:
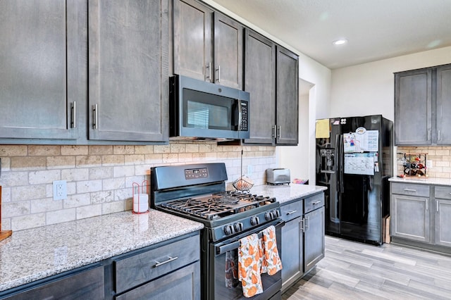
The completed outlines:
[[[279,251],[276,241],[276,227],[269,226],[261,231],[263,237],[263,265],[261,273],[274,275],[282,270],[282,261],[280,261]]]

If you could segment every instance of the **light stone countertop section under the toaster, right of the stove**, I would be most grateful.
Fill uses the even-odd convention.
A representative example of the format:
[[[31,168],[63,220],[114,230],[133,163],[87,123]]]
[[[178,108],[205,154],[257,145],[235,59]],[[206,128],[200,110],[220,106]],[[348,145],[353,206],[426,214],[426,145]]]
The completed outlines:
[[[252,194],[261,194],[263,196],[276,197],[280,204],[295,199],[323,192],[327,187],[317,185],[298,185],[290,183],[290,185],[258,185],[252,187],[249,192]]]

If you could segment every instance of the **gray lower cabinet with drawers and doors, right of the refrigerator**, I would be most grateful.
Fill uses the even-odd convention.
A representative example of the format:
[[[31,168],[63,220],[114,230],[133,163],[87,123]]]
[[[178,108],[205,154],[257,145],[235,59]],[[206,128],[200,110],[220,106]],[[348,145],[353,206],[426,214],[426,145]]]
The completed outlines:
[[[451,187],[392,182],[393,242],[451,253]]]

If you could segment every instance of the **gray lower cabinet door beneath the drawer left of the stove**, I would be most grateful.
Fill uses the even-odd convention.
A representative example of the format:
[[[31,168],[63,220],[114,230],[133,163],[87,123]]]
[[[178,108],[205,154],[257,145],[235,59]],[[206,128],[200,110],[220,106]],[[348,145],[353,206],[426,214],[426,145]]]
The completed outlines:
[[[187,265],[114,299],[200,299],[200,263]]]

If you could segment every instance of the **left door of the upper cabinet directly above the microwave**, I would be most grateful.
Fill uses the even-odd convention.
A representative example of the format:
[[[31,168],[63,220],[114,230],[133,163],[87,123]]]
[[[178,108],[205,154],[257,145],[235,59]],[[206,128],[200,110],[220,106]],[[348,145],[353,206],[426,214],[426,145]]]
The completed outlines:
[[[212,11],[192,0],[175,0],[173,11],[174,73],[213,82]]]

